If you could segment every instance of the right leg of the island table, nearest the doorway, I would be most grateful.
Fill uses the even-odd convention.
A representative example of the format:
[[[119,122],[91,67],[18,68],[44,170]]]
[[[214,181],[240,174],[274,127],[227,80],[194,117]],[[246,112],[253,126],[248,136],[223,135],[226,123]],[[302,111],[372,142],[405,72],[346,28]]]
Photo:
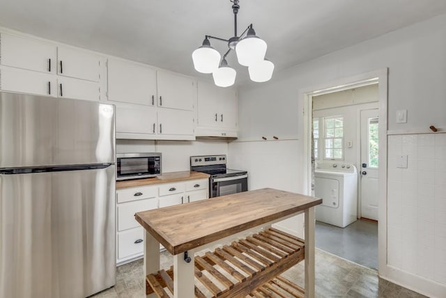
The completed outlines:
[[[305,210],[305,298],[314,297],[314,207]]]

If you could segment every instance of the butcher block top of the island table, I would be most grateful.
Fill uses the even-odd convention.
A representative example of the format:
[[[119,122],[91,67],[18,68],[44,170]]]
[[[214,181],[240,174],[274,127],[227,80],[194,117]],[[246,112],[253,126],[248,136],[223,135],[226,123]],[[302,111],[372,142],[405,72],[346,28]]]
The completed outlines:
[[[321,203],[321,198],[266,188],[137,212],[135,219],[176,255]]]

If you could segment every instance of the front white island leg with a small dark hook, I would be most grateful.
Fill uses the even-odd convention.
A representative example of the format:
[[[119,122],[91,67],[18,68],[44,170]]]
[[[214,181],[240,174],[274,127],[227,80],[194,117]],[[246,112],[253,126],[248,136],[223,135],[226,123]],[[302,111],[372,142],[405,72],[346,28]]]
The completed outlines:
[[[185,254],[174,256],[174,298],[195,297],[195,250],[187,251],[190,262],[185,261]]]

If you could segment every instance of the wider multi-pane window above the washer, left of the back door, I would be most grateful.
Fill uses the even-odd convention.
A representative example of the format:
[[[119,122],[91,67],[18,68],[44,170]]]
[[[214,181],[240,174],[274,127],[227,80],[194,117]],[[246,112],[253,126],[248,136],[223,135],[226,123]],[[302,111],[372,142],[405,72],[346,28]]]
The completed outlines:
[[[343,159],[344,117],[325,117],[323,159]]]

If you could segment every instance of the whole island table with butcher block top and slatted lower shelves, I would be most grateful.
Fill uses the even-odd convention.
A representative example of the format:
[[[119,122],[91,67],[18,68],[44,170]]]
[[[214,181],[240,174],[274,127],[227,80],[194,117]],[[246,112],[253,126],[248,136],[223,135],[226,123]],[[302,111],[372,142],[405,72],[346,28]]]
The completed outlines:
[[[138,212],[147,297],[314,297],[314,206],[321,203],[259,189]],[[305,241],[271,228],[302,212]],[[174,256],[165,271],[160,244]],[[304,258],[305,289],[279,276]]]

